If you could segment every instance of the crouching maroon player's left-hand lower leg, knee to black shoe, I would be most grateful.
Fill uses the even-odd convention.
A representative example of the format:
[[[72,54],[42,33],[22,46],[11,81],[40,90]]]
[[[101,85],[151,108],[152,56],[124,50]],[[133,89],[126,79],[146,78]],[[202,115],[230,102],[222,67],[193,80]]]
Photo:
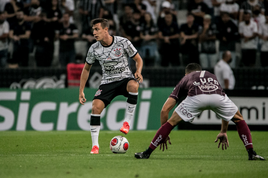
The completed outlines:
[[[159,146],[161,143],[166,141],[169,133],[171,130],[178,125],[178,123],[181,121],[181,117],[177,114],[177,112],[173,112],[171,118],[163,124],[158,131],[156,132],[156,135],[154,136],[149,148],[141,153],[135,153],[135,158],[138,159],[147,159],[150,157],[151,153]]]

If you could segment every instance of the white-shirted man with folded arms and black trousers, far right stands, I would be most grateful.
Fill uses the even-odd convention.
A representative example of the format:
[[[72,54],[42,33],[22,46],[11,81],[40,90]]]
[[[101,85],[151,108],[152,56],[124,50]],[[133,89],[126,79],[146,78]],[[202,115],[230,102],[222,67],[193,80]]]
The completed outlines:
[[[239,23],[239,33],[241,37],[242,62],[245,66],[254,66],[257,51],[257,23],[250,19],[251,14],[244,13],[244,21]]]

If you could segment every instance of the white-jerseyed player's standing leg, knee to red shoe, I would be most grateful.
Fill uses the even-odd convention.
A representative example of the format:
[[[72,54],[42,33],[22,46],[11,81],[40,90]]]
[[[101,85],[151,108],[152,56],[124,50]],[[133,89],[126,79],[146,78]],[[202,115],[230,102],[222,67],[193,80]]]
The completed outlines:
[[[92,112],[90,118],[90,130],[92,138],[92,150],[90,153],[99,153],[99,131],[101,128],[101,112],[103,111],[105,104],[102,100],[95,99],[92,102]]]

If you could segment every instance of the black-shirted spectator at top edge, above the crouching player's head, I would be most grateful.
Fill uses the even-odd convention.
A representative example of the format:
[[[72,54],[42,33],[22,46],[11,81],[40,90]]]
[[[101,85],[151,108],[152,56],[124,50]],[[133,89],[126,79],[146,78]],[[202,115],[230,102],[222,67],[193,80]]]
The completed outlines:
[[[195,15],[195,23],[202,25],[204,15],[209,14],[210,10],[203,0],[194,0],[189,1],[188,12]]]

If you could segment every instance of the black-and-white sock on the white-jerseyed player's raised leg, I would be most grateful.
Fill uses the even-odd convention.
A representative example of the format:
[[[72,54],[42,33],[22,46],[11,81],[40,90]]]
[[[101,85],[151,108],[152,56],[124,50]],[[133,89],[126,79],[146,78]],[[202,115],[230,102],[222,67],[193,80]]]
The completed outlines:
[[[128,99],[126,100],[126,115],[124,122],[128,122],[129,125],[133,118],[137,102],[138,93],[128,92]]]

